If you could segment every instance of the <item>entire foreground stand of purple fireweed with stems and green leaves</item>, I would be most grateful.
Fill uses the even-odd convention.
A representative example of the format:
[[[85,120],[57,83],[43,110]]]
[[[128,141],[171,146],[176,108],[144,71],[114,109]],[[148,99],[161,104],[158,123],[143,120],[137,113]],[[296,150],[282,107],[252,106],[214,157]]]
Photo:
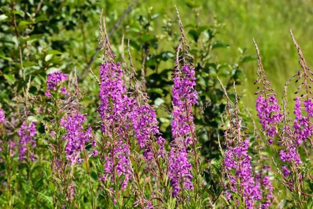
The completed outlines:
[[[259,124],[239,102],[237,81],[229,91],[231,85],[222,84],[226,78],[218,78],[214,85],[225,98],[224,134],[217,142],[220,158],[206,159],[196,122],[203,93],[196,91],[198,63],[175,10],[180,39],[171,75],[172,109],[151,105],[146,72],[137,75],[131,57],[131,40],[127,65],[124,36],[121,54],[115,55],[102,15],[99,76],[90,69],[99,84],[94,119],[76,69],[43,74],[40,95],[32,94],[34,80],[25,77],[20,102],[12,107],[17,111],[0,108],[3,208],[312,208],[313,73],[292,32],[300,70],[286,82],[282,105],[254,41]],[[149,62],[148,51],[145,56],[142,62]],[[300,85],[290,114],[287,86],[295,77]],[[162,109],[172,117],[170,137],[159,127]],[[208,178],[216,183],[210,185]]]

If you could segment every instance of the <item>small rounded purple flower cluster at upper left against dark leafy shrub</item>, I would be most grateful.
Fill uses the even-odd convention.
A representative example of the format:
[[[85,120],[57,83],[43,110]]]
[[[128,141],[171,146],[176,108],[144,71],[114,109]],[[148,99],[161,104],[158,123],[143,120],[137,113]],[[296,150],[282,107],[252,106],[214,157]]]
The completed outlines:
[[[68,78],[66,76],[65,73],[62,73],[61,71],[54,71],[53,73],[50,73],[47,77],[47,91],[45,93],[45,96],[46,97],[50,97],[51,96],[51,93],[49,90],[54,90],[56,91],[57,90],[57,86],[59,83],[63,82],[63,81],[67,81]],[[62,94],[67,94],[67,91],[66,91],[66,87],[61,87],[61,93]]]

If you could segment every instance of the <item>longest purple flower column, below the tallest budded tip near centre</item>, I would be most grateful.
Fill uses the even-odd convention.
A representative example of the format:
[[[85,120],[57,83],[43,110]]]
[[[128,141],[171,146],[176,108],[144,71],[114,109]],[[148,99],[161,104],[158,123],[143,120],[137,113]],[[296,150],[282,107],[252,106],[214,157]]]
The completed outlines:
[[[192,136],[194,136],[196,126],[193,123],[191,107],[197,103],[198,97],[194,89],[196,85],[194,68],[190,68],[189,65],[182,66],[182,71],[175,74],[173,81],[172,94],[175,108],[172,112],[172,137],[174,141],[169,156],[168,176],[174,188],[172,196],[177,197],[184,189],[193,190],[192,165],[188,162],[187,147],[195,143],[192,141]],[[182,186],[184,188],[181,188]]]

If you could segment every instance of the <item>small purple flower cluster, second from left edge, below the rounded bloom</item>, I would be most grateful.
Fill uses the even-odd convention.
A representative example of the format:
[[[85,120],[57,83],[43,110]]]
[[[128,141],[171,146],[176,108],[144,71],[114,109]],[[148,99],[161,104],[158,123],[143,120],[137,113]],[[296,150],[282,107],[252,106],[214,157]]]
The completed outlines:
[[[32,148],[36,147],[36,141],[33,139],[36,135],[36,124],[24,122],[21,128],[18,129],[19,140],[19,160],[28,158],[28,160],[35,161],[34,153]],[[13,145],[13,144],[12,144]]]

